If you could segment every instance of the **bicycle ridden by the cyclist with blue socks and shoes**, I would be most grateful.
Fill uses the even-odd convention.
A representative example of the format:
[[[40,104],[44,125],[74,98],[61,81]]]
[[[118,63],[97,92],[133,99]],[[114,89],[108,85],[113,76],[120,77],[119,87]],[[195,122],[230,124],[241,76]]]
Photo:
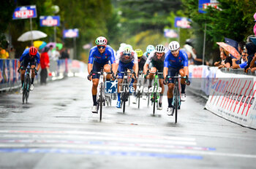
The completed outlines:
[[[123,82],[121,84],[121,106],[123,106],[123,114],[125,112],[125,103],[128,101],[128,98],[129,98],[129,84],[131,82],[131,76],[128,76],[129,74],[134,74],[135,76],[135,79],[136,78],[136,74],[135,72],[132,70],[129,70],[130,72],[128,72],[127,70],[126,71],[118,71],[118,73],[121,73],[121,74],[124,74],[124,77],[123,77]],[[129,79],[129,80],[128,80]]]

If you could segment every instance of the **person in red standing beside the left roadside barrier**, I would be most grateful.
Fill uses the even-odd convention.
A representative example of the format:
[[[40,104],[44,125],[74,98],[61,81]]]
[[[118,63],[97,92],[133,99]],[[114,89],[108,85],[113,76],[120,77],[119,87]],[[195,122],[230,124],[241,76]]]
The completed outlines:
[[[42,54],[40,57],[40,63],[41,63],[41,71],[40,71],[40,84],[46,84],[46,79],[48,76],[48,68],[50,67],[50,61],[49,61],[49,47],[45,47],[42,50]]]

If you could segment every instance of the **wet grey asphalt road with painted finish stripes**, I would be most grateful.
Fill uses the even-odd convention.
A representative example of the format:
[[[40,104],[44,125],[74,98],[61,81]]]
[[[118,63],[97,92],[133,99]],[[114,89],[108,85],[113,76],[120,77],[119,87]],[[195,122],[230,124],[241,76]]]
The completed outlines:
[[[255,168],[256,130],[204,110],[189,95],[178,123],[164,109],[104,107],[91,114],[91,83],[71,77],[35,86],[29,103],[0,94],[0,168]]]

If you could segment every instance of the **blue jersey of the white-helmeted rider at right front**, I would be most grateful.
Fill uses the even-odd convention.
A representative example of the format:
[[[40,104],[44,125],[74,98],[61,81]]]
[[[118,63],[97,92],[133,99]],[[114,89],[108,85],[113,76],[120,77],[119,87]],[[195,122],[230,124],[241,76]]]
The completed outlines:
[[[179,50],[178,57],[174,57],[173,54],[168,50],[168,52],[165,54],[165,62],[164,66],[165,68],[178,68],[182,66],[188,66],[188,58],[187,53],[184,50]]]

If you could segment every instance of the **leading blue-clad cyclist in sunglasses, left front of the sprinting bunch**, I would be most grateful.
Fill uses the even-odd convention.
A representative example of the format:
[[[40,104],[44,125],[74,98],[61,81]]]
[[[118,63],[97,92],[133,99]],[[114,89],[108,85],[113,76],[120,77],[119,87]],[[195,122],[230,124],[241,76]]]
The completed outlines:
[[[97,113],[97,87],[99,84],[99,74],[91,74],[91,71],[101,71],[102,68],[104,68],[105,72],[110,72],[111,67],[108,64],[108,61],[110,60],[110,64],[113,68],[113,72],[115,72],[115,54],[112,49],[112,47],[107,46],[108,40],[103,37],[99,36],[95,40],[95,44],[97,46],[94,46],[90,50],[89,54],[89,60],[88,60],[88,79],[91,81],[92,79],[92,88],[91,88],[91,94],[93,98],[94,105],[91,107],[91,111],[93,113]],[[106,76],[106,79],[110,79],[111,75],[108,74]]]

